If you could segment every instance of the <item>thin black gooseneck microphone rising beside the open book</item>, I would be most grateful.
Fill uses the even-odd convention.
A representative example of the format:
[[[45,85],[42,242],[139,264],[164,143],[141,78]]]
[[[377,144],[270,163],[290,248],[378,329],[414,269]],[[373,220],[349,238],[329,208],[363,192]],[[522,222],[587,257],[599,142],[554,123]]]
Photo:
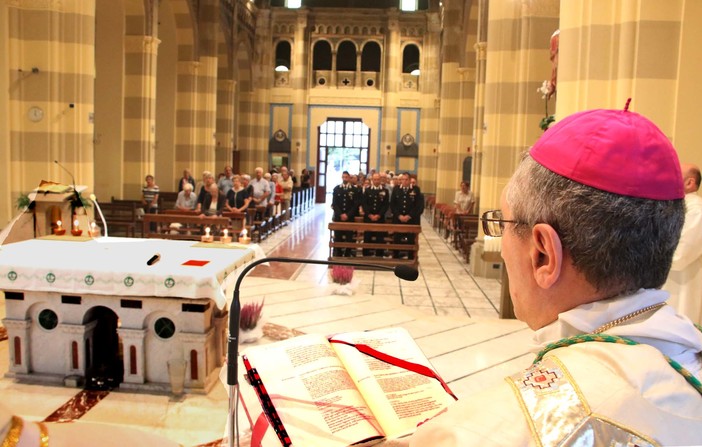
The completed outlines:
[[[419,276],[419,272],[415,268],[406,265],[379,265],[371,262],[345,262],[345,261],[323,261],[320,259],[297,259],[297,258],[261,258],[257,259],[244,267],[239,274],[234,285],[234,294],[232,304],[229,309],[229,337],[227,338],[227,385],[229,385],[229,447],[239,446],[239,422],[237,418],[237,407],[239,403],[239,319],[241,318],[241,300],[239,299],[239,289],[241,282],[247,273],[255,267],[266,262],[282,262],[282,263],[297,263],[297,264],[316,264],[316,265],[345,265],[348,267],[365,267],[376,270],[392,271],[400,279],[406,281],[414,281]],[[236,444],[235,444],[236,442]]]

